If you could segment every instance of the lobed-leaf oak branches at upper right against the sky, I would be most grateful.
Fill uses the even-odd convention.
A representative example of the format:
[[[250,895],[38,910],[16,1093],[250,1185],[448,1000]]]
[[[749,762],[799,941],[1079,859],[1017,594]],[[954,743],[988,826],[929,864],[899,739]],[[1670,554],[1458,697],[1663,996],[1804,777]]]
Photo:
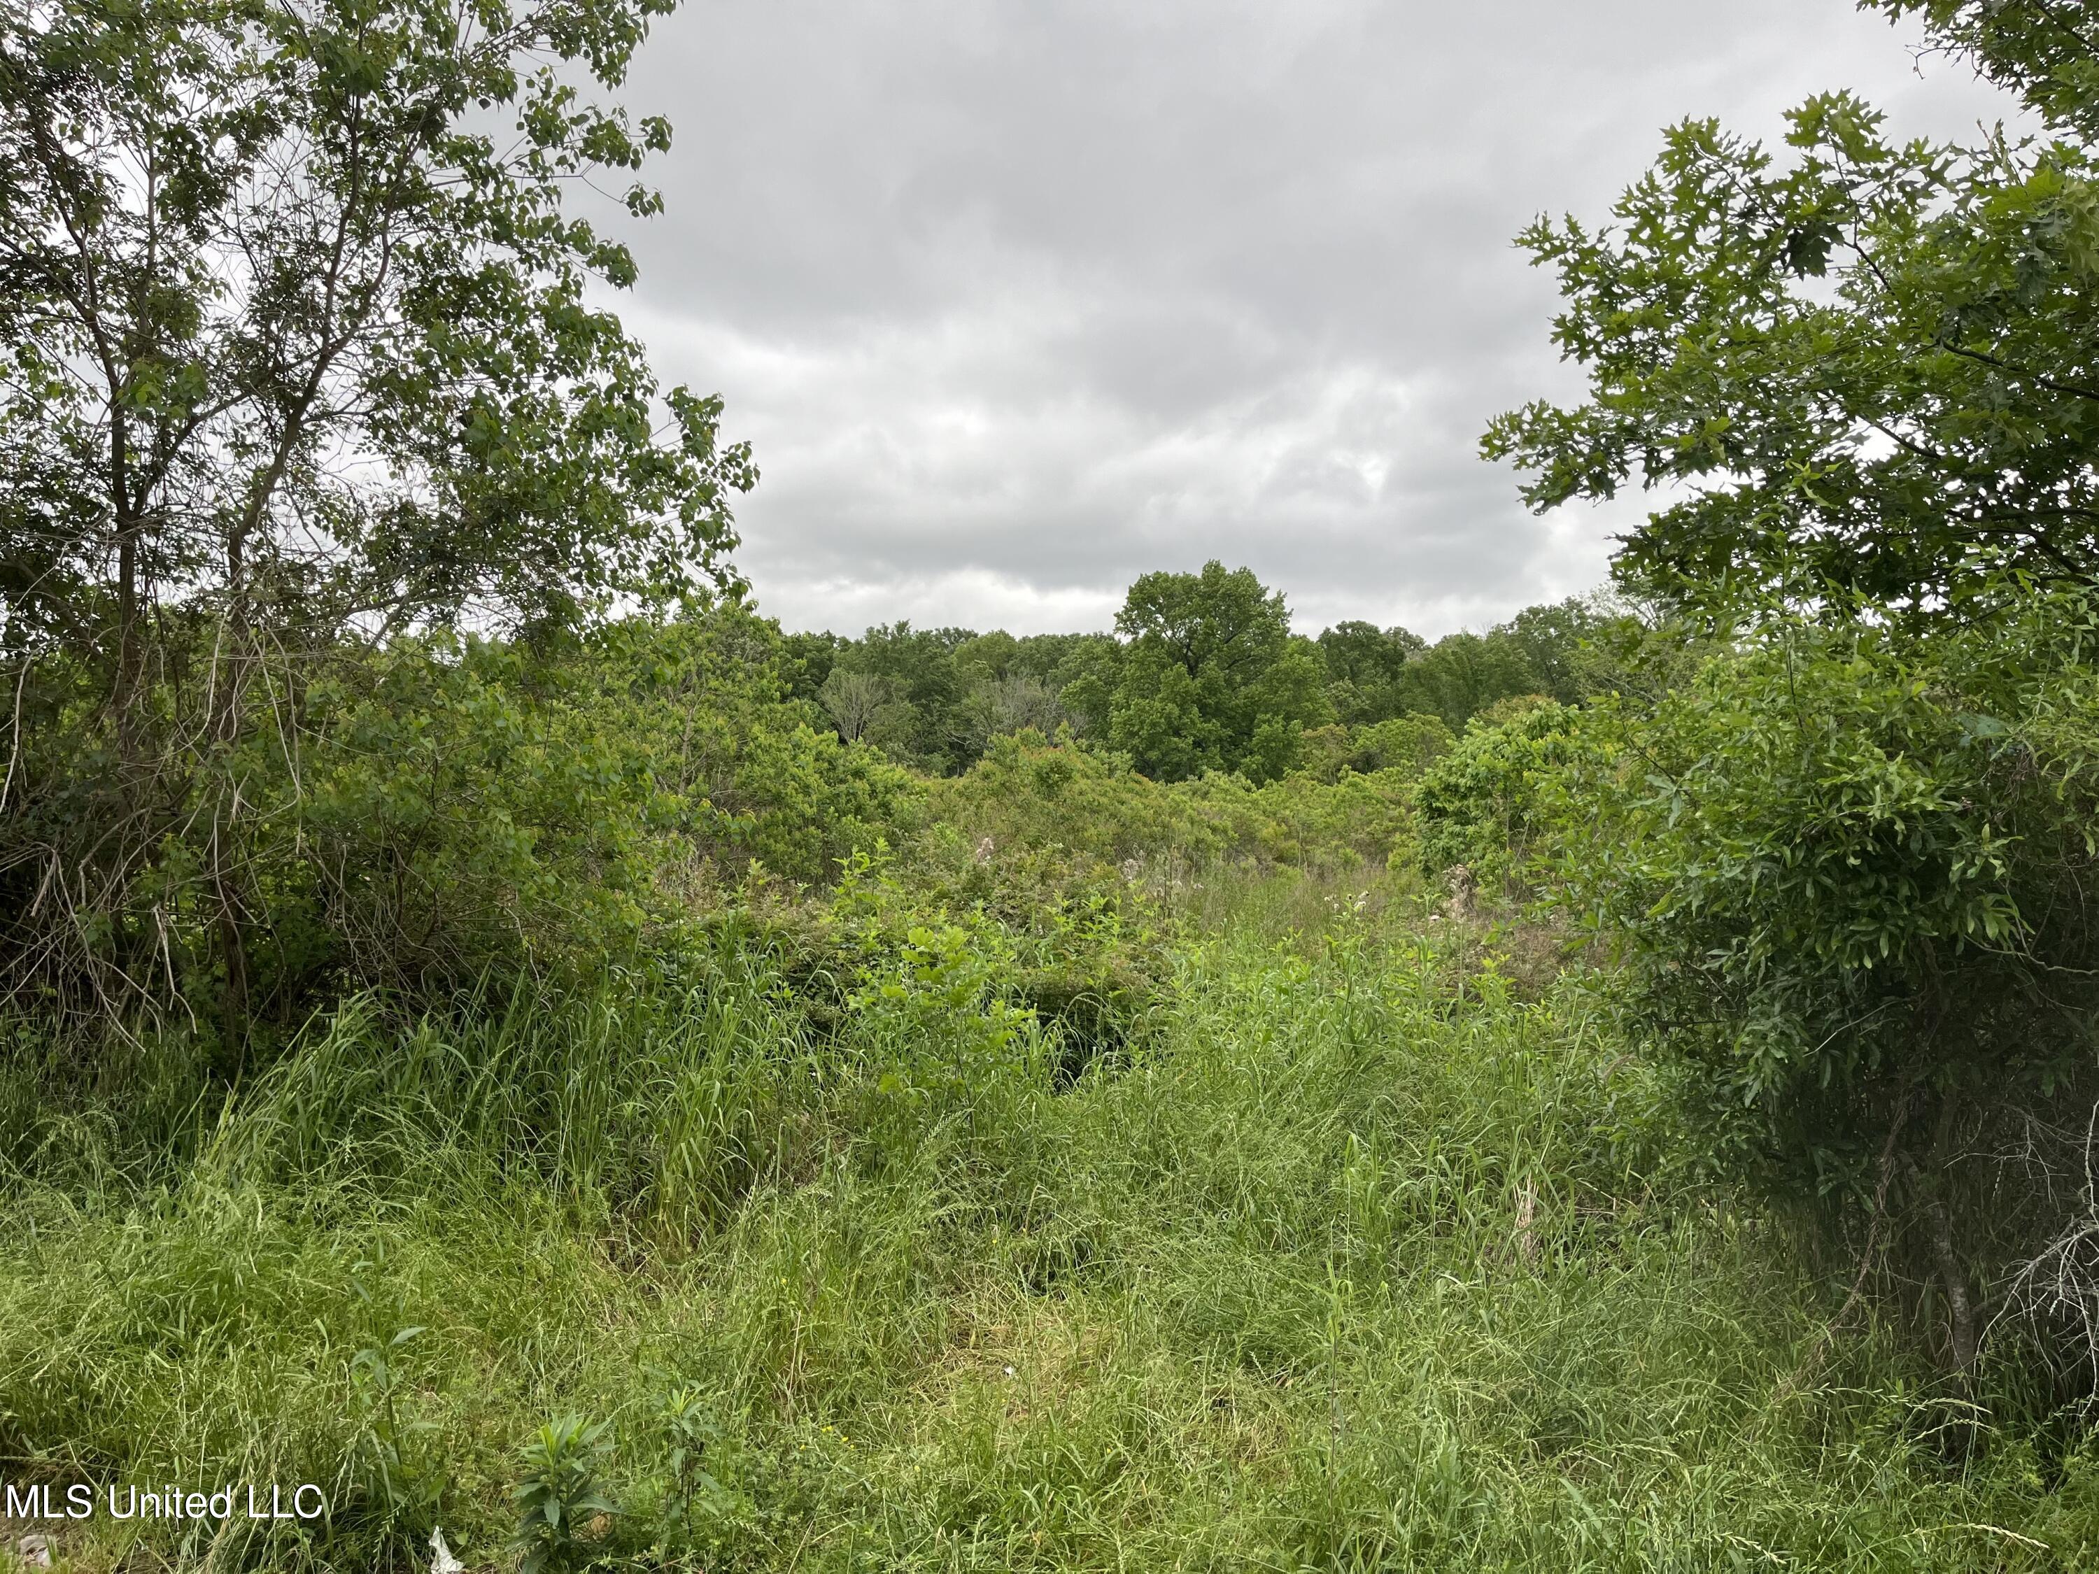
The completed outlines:
[[[1553,338],[1591,399],[1497,420],[1536,508],[1683,493],[1623,577],[1698,602],[1856,598],[1918,617],[2000,571],[2099,573],[2099,63],[2082,0],[1883,0],[2021,92],[2051,136],[1887,139],[1851,94],[1788,155],[1685,122],[1589,229],[1539,220]]]

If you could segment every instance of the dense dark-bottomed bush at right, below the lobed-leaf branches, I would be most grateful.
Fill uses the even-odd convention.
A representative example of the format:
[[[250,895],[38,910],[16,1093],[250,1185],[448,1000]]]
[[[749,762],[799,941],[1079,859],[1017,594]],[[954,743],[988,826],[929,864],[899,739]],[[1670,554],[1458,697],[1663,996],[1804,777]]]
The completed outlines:
[[[1769,1192],[1879,1198],[1956,1366],[2082,1163],[2095,638],[2068,594],[1925,640],[1780,623],[1591,722],[1620,751],[1564,797],[1648,1043]]]

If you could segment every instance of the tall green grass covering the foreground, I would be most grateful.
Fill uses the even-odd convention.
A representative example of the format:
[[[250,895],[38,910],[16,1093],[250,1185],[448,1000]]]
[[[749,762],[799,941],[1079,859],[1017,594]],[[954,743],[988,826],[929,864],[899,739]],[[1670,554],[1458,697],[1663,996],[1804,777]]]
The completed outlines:
[[[99,1079],[19,1047],[0,1473],[334,1503],[311,1534],[61,1528],[82,1570],[418,1568],[432,1522],[497,1568],[560,1415],[613,1423],[613,1568],[2099,1555],[2089,1446],[1952,1448],[1870,1331],[1809,1366],[1830,1303],[1696,1184],[1578,980],[1520,999],[1404,902],[1203,900],[1230,923],[1066,1091],[953,997],[819,1030],[733,938],[584,1001],[346,1009],[231,1100],[178,1045]],[[388,1347],[390,1398],[353,1379]],[[678,1385],[720,1492],[651,1551]]]

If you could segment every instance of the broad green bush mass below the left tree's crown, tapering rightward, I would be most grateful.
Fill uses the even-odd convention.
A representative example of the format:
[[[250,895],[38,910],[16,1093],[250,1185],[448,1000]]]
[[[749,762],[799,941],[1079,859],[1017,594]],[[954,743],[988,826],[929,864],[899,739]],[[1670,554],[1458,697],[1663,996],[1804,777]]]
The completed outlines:
[[[632,961],[749,865],[804,886],[911,818],[909,779],[785,701],[777,636],[737,609],[619,623],[552,659],[418,642],[306,697],[279,772],[298,848],[258,850],[357,982]],[[260,772],[258,772],[260,774]],[[718,900],[718,898],[714,898]]]

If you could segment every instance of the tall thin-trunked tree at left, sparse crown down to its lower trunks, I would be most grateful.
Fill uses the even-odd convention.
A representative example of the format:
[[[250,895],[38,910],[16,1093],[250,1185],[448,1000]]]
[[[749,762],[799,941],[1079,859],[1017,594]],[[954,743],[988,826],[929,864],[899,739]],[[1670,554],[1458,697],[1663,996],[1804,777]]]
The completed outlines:
[[[122,995],[183,867],[237,1007],[233,760],[264,724],[296,756],[313,661],[462,617],[552,640],[730,579],[749,455],[590,304],[634,262],[560,206],[670,145],[581,92],[665,8],[0,19],[0,911],[42,915],[0,926],[0,984]]]

